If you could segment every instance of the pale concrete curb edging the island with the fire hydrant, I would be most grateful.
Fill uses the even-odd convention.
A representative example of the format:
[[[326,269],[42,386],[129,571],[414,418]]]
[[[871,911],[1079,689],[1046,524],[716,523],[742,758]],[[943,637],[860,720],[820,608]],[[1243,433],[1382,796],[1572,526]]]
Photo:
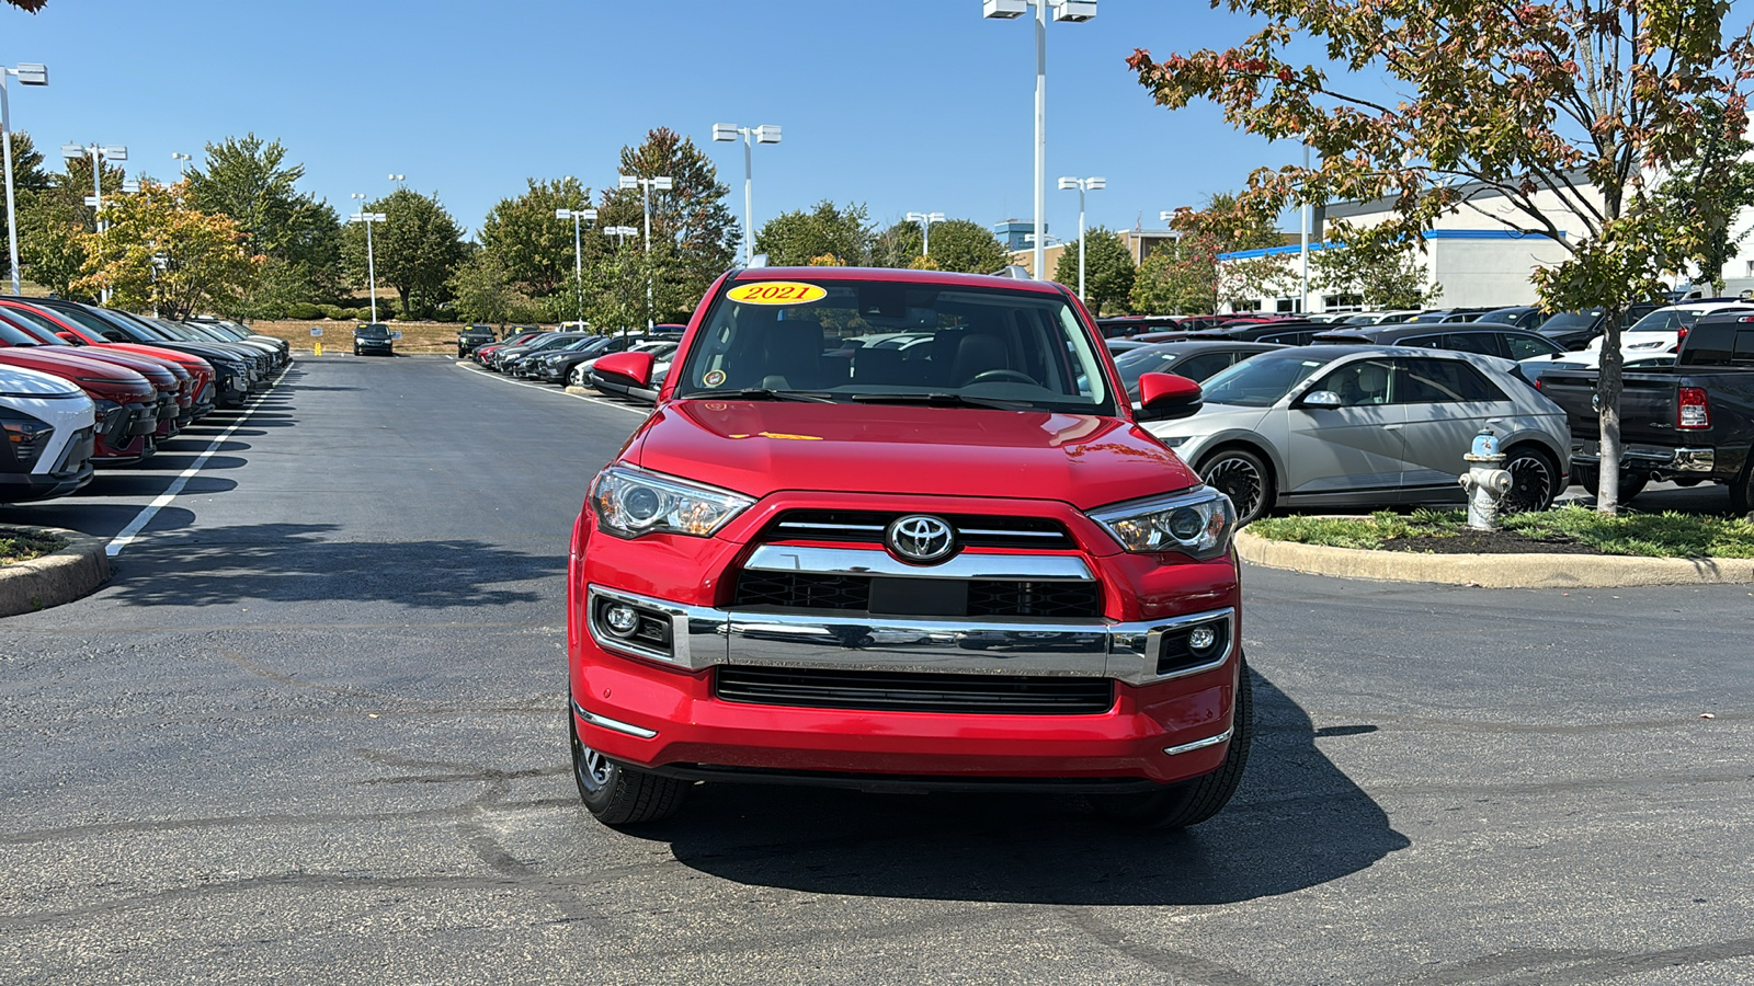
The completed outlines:
[[[1626,558],[1612,554],[1417,554],[1268,540],[1237,533],[1237,554],[1268,568],[1342,579],[1440,582],[1487,589],[1721,586],[1754,582],[1754,558]]]

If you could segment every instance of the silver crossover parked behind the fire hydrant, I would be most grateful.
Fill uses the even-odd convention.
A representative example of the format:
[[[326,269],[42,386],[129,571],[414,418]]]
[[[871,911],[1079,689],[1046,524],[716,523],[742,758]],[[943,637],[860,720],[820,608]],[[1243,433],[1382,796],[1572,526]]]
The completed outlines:
[[[1475,353],[1301,346],[1210,377],[1205,405],[1145,428],[1230,495],[1242,523],[1273,505],[1461,502],[1456,477],[1480,428],[1514,477],[1510,511],[1565,489],[1565,412],[1514,363]]]

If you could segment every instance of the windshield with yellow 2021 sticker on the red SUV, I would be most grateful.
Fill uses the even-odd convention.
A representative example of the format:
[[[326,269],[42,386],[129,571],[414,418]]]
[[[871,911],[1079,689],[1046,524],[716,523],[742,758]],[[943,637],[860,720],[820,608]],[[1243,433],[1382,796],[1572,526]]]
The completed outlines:
[[[844,340],[881,339],[844,346]],[[886,346],[895,340],[896,346]],[[807,391],[1114,414],[1102,354],[1058,293],[877,281],[742,281],[721,295],[677,397]]]

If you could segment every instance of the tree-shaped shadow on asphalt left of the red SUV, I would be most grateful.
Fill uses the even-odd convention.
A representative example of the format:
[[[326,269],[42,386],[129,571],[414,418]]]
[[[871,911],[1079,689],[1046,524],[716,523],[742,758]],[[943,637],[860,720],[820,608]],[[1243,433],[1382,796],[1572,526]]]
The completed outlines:
[[[482,540],[328,540],[337,525],[235,525],[154,530],[116,560],[118,605],[217,605],[239,600],[395,602],[417,609],[535,602],[498,588],[567,570]]]

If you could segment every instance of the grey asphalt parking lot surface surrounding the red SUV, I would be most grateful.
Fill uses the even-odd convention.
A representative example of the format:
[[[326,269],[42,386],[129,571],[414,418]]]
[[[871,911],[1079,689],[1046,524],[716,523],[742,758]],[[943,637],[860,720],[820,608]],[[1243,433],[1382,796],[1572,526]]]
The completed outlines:
[[[237,425],[107,588],[0,621],[4,981],[1754,981],[1749,588],[1251,568],[1259,733],[1187,833],[710,786],[617,833],[563,574],[640,414],[333,356],[240,416],[0,509],[114,535]]]

